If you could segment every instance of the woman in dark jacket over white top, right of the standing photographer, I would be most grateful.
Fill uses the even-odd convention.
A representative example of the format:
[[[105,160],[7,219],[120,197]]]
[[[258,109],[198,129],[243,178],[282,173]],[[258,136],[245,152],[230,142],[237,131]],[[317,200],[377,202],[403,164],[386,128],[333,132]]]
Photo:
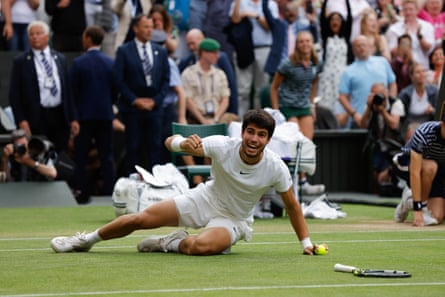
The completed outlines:
[[[412,84],[399,93],[399,98],[405,107],[406,119],[404,127],[410,126],[411,123],[423,123],[433,120],[439,92],[436,86],[427,83],[426,69],[422,64],[415,63],[409,72]],[[404,130],[406,130],[404,132],[405,138],[409,138],[414,132],[407,128],[404,128]]]

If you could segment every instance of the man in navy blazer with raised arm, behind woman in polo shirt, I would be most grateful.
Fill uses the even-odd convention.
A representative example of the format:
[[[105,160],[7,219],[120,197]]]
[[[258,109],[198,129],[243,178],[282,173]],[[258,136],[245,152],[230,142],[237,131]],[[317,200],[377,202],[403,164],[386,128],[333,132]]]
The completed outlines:
[[[295,45],[289,45],[289,42],[295,43],[295,35],[299,31],[310,31],[314,37],[314,42],[318,40],[317,24],[315,23],[315,12],[307,13],[306,16],[310,21],[309,24],[303,24],[298,20],[298,5],[293,2],[286,4],[282,18],[275,18],[270,9],[269,1],[263,0],[263,13],[267,24],[272,32],[273,43],[270,48],[269,56],[267,57],[264,71],[269,73],[271,77],[275,74],[281,60],[289,56],[289,48],[294,49]],[[289,40],[289,26],[291,26],[294,39]]]

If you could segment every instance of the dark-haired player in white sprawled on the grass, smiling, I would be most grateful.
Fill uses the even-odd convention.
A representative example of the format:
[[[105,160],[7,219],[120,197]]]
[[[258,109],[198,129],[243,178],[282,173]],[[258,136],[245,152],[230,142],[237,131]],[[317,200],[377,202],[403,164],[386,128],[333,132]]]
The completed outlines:
[[[237,241],[250,240],[253,211],[263,193],[274,187],[281,195],[303,254],[312,255],[314,245],[292,189],[292,178],[278,155],[266,148],[275,129],[274,119],[264,110],[244,115],[241,139],[227,136],[173,135],[165,145],[212,159],[213,179],[183,195],[160,201],[141,213],[129,214],[91,233],[51,240],[55,252],[86,252],[97,242],[124,237],[135,230],[162,226],[204,228],[190,236],[179,230],[166,236],[142,240],[139,252],[178,252],[187,255],[230,253]]]

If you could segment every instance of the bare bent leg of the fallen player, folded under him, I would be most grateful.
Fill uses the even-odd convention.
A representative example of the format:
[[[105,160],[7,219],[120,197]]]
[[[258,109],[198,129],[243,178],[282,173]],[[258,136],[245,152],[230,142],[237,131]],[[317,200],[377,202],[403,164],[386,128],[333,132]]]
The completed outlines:
[[[185,238],[179,245],[179,252],[186,255],[214,255],[224,252],[231,244],[229,231],[224,227],[214,227]]]

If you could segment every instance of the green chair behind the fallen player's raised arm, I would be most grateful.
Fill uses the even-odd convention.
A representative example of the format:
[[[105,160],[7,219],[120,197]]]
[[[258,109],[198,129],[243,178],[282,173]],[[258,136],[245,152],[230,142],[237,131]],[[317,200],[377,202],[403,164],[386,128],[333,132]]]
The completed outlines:
[[[211,135],[227,135],[227,125],[225,123],[212,125],[172,123],[172,132],[173,135],[181,134],[187,137],[197,134],[199,137],[204,138]],[[195,175],[200,175],[204,179],[211,175],[211,165],[183,165],[182,156],[184,155],[186,155],[184,152],[172,152],[172,163],[185,175],[190,185],[192,185],[193,176]]]

